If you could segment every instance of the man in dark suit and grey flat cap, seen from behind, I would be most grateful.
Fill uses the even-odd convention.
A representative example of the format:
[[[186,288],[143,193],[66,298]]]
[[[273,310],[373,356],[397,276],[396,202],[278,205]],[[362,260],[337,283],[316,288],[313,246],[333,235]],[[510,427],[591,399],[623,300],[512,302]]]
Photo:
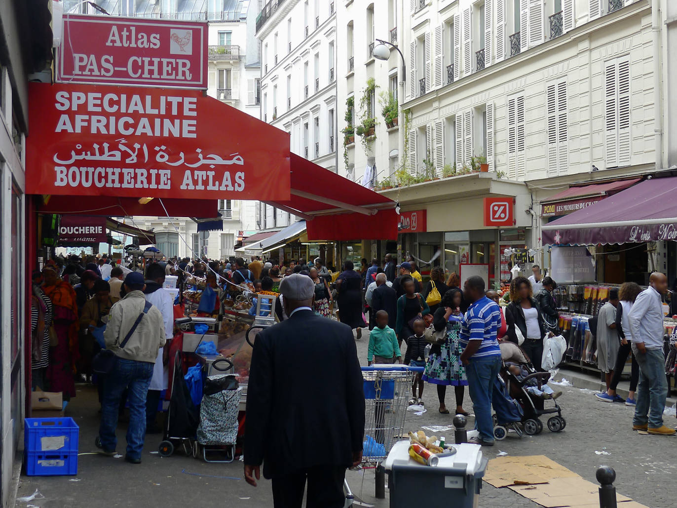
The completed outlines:
[[[363,378],[350,327],[316,316],[315,284],[280,282],[288,319],[261,331],[247,387],[244,478],[272,480],[276,507],[343,507],[345,469],[362,460]]]

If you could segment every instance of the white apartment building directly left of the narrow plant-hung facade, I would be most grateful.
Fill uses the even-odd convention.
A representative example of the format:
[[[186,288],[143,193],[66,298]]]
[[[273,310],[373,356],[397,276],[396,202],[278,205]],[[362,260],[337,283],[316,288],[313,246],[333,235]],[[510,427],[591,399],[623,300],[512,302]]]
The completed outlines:
[[[341,1],[341,0],[339,0]],[[334,1],[259,1],[261,119],[290,135],[290,148],[337,171]],[[259,203],[257,226],[280,229],[289,213]]]

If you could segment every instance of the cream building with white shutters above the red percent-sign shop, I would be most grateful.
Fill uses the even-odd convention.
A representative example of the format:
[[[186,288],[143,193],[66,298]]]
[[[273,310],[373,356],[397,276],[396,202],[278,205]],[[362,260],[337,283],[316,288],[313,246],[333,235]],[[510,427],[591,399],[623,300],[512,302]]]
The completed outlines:
[[[456,175],[385,191],[404,211],[427,210],[427,234],[435,234],[425,242],[464,236],[458,241],[472,244],[473,230],[490,242],[496,228],[482,224],[479,196],[498,195],[515,197],[519,231],[505,239],[496,232],[496,247],[508,237],[536,247],[540,202],[568,184],[668,167],[664,7],[665,0],[406,1],[398,27],[407,66],[402,106],[410,112],[404,162],[412,175],[430,163],[437,177]],[[470,172],[477,157],[489,173]],[[466,262],[485,261],[471,252]]]

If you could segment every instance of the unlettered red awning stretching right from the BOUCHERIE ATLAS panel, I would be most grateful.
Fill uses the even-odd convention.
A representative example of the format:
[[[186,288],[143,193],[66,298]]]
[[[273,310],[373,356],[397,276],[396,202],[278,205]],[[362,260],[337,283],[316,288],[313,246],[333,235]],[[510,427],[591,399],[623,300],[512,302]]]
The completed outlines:
[[[267,204],[305,219],[309,240],[397,240],[395,201],[297,154],[290,163],[290,199]]]

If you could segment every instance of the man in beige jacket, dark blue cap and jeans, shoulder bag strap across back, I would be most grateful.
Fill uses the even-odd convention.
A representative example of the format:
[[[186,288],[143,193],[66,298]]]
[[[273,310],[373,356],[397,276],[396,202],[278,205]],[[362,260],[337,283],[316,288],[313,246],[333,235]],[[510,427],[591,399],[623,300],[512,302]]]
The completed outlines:
[[[110,309],[104,332],[106,347],[116,358],[104,380],[101,425],[96,445],[109,456],[115,454],[118,407],[128,390],[129,426],[125,461],[141,463],[146,438],[146,395],[160,347],[165,345],[165,324],[158,308],[146,302],[144,276],[131,272],[125,277],[126,295]]]

